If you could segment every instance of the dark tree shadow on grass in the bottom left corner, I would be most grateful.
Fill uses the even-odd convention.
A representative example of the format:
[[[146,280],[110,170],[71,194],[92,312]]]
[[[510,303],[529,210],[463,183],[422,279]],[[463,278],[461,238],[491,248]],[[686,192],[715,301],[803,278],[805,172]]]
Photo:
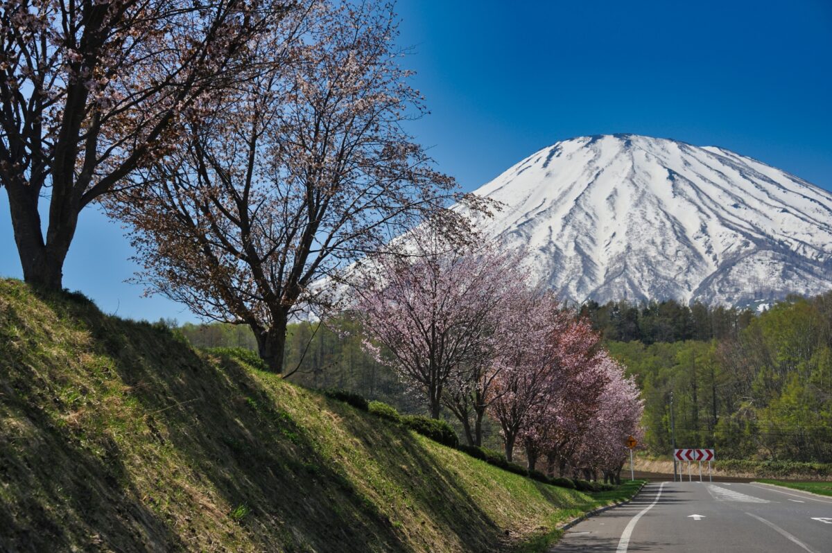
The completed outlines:
[[[11,306],[0,314],[2,328],[31,323]],[[0,341],[8,338],[0,330]],[[83,432],[57,417],[52,359],[19,351],[0,347],[0,551],[181,549],[126,477],[115,442],[99,437],[92,452]]]

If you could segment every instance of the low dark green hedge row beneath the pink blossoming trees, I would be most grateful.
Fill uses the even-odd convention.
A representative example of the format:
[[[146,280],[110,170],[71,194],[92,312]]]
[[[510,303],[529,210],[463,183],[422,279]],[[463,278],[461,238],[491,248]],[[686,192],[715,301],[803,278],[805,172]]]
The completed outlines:
[[[327,397],[332,397],[342,402],[349,403],[353,407],[361,411],[369,412],[376,417],[384,418],[395,424],[399,424],[405,428],[409,428],[414,432],[418,432],[425,437],[430,438],[434,442],[443,444],[443,446],[453,447],[461,452],[467,453],[475,459],[487,462],[489,465],[500,467],[508,472],[513,472],[520,476],[527,476],[537,481],[552,486],[560,486],[578,491],[605,491],[612,490],[614,486],[610,484],[601,484],[598,482],[590,482],[586,480],[572,481],[569,478],[555,477],[550,478],[540,471],[529,471],[526,467],[522,467],[517,463],[508,462],[503,453],[495,452],[488,447],[468,446],[459,443],[457,433],[453,431],[448,422],[437,420],[434,418],[420,417],[418,415],[401,415],[395,407],[384,402],[368,402],[364,397],[356,393],[345,392],[344,390],[327,390],[324,392]]]

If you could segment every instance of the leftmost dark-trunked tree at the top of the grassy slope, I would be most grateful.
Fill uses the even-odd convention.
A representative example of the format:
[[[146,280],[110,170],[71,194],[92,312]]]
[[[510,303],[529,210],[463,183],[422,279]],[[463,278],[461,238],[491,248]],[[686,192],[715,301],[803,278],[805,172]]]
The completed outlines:
[[[181,122],[250,66],[251,37],[290,7],[300,4],[2,2],[0,186],[27,282],[62,288],[81,210],[176,146]]]

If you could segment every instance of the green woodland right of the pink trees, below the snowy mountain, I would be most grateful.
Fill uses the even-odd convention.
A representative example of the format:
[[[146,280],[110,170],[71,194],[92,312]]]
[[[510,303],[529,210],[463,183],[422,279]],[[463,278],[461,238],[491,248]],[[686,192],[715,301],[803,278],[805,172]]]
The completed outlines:
[[[676,447],[716,447],[721,458],[832,461],[832,293],[792,297],[759,315],[674,302],[585,313],[612,335],[607,348],[636,376],[651,452],[671,452],[672,393]],[[631,321],[624,336],[621,314]],[[665,329],[664,339],[655,328]]]

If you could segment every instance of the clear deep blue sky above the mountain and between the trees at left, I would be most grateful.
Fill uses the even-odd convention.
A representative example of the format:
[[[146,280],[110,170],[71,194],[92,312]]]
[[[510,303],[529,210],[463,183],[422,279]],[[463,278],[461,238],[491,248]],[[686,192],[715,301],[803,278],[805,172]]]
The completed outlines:
[[[723,146],[832,190],[832,1],[400,0],[431,114],[410,126],[463,190],[542,146],[632,132]],[[194,320],[125,284],[118,225],[81,216],[64,283],[106,312]],[[0,192],[0,275],[20,277]]]

